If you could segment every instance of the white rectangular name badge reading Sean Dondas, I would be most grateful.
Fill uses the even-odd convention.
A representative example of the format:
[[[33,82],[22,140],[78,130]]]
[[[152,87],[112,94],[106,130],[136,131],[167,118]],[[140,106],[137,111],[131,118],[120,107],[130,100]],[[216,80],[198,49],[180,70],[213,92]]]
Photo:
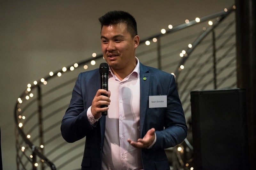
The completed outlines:
[[[149,108],[167,107],[167,95],[149,96]]]

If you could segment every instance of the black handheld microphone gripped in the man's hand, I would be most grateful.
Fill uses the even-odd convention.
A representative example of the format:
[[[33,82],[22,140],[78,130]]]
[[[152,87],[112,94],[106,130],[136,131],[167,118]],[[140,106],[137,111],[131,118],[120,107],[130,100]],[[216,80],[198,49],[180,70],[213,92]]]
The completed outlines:
[[[101,89],[108,91],[108,72],[109,72],[108,63],[101,63],[99,71],[100,71]],[[101,94],[101,95],[108,96],[107,94]],[[108,106],[101,105],[100,107],[103,108],[103,107],[108,107]],[[103,115],[103,116],[108,115],[108,111],[101,112],[101,115]]]

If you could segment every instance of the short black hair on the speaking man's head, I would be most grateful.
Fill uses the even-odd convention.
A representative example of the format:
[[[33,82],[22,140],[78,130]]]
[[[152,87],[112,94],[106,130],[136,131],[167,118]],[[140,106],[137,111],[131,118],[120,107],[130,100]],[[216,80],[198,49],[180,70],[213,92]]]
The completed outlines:
[[[135,18],[125,11],[109,11],[105,15],[99,18],[101,29],[103,26],[116,25],[119,23],[125,23],[128,32],[132,37],[138,35],[137,23]]]

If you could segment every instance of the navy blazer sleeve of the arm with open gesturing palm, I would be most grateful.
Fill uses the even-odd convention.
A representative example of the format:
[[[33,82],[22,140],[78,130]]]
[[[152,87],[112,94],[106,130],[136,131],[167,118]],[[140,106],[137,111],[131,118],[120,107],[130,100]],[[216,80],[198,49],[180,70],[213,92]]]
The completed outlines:
[[[166,81],[166,75],[164,80]],[[171,75],[167,92],[167,107],[164,110],[164,129],[156,130],[156,143],[152,149],[174,147],[182,143],[186,136],[187,125],[185,115],[177,91],[175,78]]]

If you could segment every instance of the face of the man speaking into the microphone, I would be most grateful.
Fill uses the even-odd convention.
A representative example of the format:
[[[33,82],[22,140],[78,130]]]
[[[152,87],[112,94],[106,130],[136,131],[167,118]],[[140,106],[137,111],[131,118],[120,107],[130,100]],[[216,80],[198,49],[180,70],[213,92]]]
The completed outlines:
[[[132,37],[125,23],[103,26],[101,29],[101,49],[106,62],[112,69],[123,70],[132,67],[139,37]]]

